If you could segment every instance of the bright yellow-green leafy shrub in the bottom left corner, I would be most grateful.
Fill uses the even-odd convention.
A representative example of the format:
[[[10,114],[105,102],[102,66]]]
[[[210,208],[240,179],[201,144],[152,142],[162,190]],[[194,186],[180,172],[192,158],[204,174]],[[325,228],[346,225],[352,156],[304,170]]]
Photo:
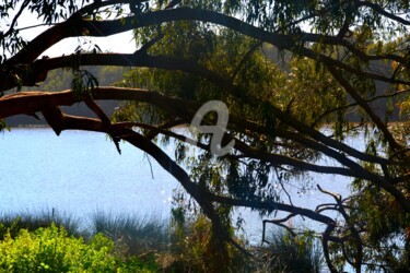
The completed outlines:
[[[89,244],[68,236],[51,224],[35,232],[21,229],[14,238],[10,233],[0,241],[2,272],[154,272],[153,258],[120,260],[113,254],[114,242],[102,234]]]

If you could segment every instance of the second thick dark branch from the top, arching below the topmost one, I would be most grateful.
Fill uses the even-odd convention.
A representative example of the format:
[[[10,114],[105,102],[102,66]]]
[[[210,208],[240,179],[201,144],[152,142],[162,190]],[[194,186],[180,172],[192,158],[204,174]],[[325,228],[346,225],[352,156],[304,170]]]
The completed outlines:
[[[210,71],[210,70],[208,70],[208,69],[206,69],[201,66],[198,66],[197,63],[194,63],[189,60],[176,59],[176,58],[166,57],[166,56],[149,56],[144,51],[137,51],[133,55],[116,55],[116,54],[93,55],[93,54],[85,54],[85,55],[80,55],[80,56],[67,56],[67,57],[59,57],[59,58],[52,58],[52,59],[42,59],[42,60],[38,60],[38,61],[34,62],[33,68],[31,69],[32,72],[30,74],[27,74],[27,76],[31,81],[33,81],[33,79],[35,79],[36,75],[45,75],[48,70],[56,69],[56,68],[59,68],[59,67],[67,67],[67,66],[69,66],[68,63],[71,63],[71,61],[70,61],[71,58],[78,58],[77,61],[79,63],[81,63],[82,66],[86,66],[86,64],[101,64],[101,66],[103,66],[105,63],[109,63],[110,66],[132,64],[132,66],[136,66],[136,67],[138,66],[138,67],[151,67],[151,68],[181,70],[181,71],[186,71],[186,72],[189,72],[189,73],[192,73],[192,74],[203,76],[203,78],[208,79],[209,81],[213,82],[214,84],[216,84],[216,85],[219,85],[223,88],[226,88],[226,90],[230,90],[230,91],[232,91],[236,94],[239,94],[239,96],[242,96],[242,97],[244,96],[242,92],[236,91],[236,87],[231,83],[230,80],[227,80],[225,78],[222,78],[219,74],[216,74],[216,73],[214,73],[214,72],[212,72],[212,71]],[[35,71],[37,71],[37,72],[35,72]],[[40,81],[40,80],[42,79],[37,79],[35,81]],[[255,105],[259,105],[259,100],[254,98],[254,97],[246,96],[243,99],[247,100],[248,103],[254,103]],[[289,115],[282,112],[280,109],[278,109],[273,105],[272,105],[271,108],[272,108],[272,110],[274,110],[274,112],[276,112],[274,115],[279,119],[281,119],[285,123],[291,124],[293,128],[301,131],[302,133],[306,133],[306,134],[311,135],[313,139],[323,142],[325,145],[331,146],[331,147],[337,149],[339,151],[343,151],[344,153],[347,153],[351,156],[358,157],[362,161],[370,161],[370,162],[375,162],[375,163],[379,163],[379,164],[387,164],[387,161],[380,161],[379,158],[376,158],[376,157],[373,158],[372,155],[360,153],[360,152],[355,151],[354,149],[352,149],[352,147],[350,147],[350,146],[348,146],[343,143],[340,143],[340,142],[335,141],[330,138],[327,138],[323,133],[312,129],[311,127],[308,127],[306,124],[303,124],[302,122],[298,122],[297,120],[293,119]],[[239,124],[242,124],[242,122],[239,122]],[[254,128],[254,130],[256,128]],[[262,128],[262,129],[265,130],[266,128]],[[281,133],[280,129],[278,129],[278,133]],[[301,139],[303,139],[303,136],[295,135],[295,134],[289,135],[289,133],[286,135],[283,135],[283,136],[291,138],[291,139],[296,140],[298,142],[301,142]],[[297,140],[295,138],[297,138],[300,140]],[[312,142],[308,143],[308,144],[312,144]],[[331,154],[331,151],[329,151],[325,145],[323,145],[320,149],[318,146],[316,146],[316,149],[318,149],[318,151],[321,151],[321,152],[327,150],[328,153],[325,152],[325,154],[327,154],[327,155],[329,155],[329,153]],[[333,155],[331,155],[331,156],[333,156]],[[344,164],[344,163],[342,163],[342,164]]]

